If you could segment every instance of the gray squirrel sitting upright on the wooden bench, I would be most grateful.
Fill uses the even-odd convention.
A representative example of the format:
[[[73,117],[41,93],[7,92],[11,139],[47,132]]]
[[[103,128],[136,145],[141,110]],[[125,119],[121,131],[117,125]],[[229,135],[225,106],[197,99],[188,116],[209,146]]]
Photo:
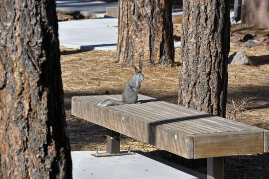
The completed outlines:
[[[139,62],[139,71],[136,69],[135,65],[132,65],[135,69],[135,76],[131,78],[128,82],[125,83],[122,99],[123,100],[114,100],[114,99],[104,99],[99,102],[98,106],[107,106],[107,105],[121,105],[121,104],[134,104],[137,103],[138,95],[137,89],[140,89],[141,82],[144,80],[144,75],[142,74],[142,64]]]

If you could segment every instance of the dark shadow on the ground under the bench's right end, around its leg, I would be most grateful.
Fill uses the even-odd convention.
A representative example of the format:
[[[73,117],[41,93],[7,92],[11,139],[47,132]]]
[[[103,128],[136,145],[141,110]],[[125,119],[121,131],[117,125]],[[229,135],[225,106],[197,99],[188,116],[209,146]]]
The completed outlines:
[[[164,150],[149,152],[153,156],[206,174],[206,159],[186,159]],[[225,179],[269,179],[269,153],[225,157]]]

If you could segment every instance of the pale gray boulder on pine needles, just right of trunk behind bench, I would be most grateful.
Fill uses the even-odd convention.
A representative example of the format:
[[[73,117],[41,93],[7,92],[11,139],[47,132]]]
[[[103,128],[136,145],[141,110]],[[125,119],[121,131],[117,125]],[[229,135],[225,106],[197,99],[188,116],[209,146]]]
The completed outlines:
[[[244,50],[235,52],[228,58],[228,64],[230,65],[243,65],[243,64],[252,64],[251,60],[247,56]]]

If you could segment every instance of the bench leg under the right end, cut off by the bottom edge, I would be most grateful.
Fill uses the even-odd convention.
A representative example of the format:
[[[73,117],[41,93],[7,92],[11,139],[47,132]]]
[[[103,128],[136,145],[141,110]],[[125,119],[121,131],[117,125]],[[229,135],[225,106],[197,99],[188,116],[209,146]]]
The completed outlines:
[[[207,158],[207,179],[224,179],[224,157]]]

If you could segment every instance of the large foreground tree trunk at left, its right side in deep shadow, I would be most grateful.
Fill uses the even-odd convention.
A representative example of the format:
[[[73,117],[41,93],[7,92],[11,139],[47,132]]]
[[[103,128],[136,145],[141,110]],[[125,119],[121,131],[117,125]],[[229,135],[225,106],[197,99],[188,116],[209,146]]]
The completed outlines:
[[[67,179],[72,164],[55,0],[0,0],[0,178]]]

